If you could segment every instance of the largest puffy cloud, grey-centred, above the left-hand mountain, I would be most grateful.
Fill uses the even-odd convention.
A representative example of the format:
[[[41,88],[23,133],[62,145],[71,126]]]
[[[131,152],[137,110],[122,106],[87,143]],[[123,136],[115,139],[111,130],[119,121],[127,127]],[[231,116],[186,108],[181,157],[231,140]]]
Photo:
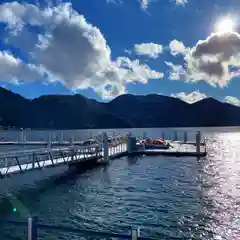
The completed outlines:
[[[15,70],[15,73],[21,72],[15,77],[23,80],[25,73],[30,76],[27,70],[35,73],[37,69],[48,81],[62,81],[71,89],[90,87],[102,95],[114,97],[125,92],[127,83],[147,83],[149,79],[163,77],[139,60],[124,57],[113,60],[100,30],[88,23],[70,3],[46,8],[3,3],[0,22],[7,25],[5,40],[8,44],[16,46],[26,34],[31,36],[28,48],[21,48],[31,65],[19,60],[25,70]],[[35,31],[30,32],[29,27]],[[6,80],[5,76],[8,75],[0,75],[0,78]]]

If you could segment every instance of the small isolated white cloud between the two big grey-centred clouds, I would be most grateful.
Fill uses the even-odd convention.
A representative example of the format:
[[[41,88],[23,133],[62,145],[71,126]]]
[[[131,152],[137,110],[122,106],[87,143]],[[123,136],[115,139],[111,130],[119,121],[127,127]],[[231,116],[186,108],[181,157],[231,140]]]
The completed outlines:
[[[135,44],[134,50],[137,55],[158,58],[158,56],[163,52],[163,46],[156,43],[141,43]]]

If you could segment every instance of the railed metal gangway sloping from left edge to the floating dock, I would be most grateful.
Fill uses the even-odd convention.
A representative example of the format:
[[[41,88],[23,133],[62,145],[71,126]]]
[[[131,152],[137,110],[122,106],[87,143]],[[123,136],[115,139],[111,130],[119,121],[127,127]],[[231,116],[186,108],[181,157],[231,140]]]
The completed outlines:
[[[126,152],[126,144],[109,147],[108,155],[115,158]],[[0,176],[26,171],[55,167],[60,164],[78,164],[89,160],[104,160],[101,145],[69,146],[53,149],[35,149],[0,153]]]

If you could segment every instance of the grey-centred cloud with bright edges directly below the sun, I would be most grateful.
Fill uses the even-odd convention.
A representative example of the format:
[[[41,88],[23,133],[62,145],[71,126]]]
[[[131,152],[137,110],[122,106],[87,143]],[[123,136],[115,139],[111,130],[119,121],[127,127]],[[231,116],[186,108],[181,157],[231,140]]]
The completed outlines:
[[[239,76],[238,70],[231,70],[240,67],[240,35],[236,32],[212,33],[193,48],[174,40],[169,48],[173,56],[181,54],[184,57],[181,67],[167,64],[171,68],[170,77],[182,75],[188,82],[203,80],[212,86],[225,87]]]

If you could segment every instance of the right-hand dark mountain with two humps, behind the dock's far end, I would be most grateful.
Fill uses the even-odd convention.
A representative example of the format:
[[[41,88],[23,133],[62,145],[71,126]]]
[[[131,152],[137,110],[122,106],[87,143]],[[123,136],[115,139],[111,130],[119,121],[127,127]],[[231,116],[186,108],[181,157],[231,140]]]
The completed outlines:
[[[122,95],[108,103],[107,108],[134,127],[240,125],[240,108],[213,98],[188,104],[161,95]]]

